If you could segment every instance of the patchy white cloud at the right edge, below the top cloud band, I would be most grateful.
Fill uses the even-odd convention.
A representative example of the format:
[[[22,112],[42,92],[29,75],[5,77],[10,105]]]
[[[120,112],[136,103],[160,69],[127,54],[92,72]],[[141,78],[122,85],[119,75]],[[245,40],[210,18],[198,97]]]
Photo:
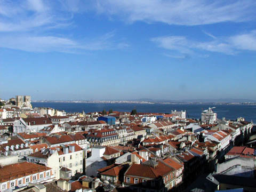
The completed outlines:
[[[162,36],[152,38],[151,41],[155,42],[159,47],[182,55],[200,55],[200,51],[234,55],[242,50],[256,51],[256,30],[231,37],[215,37],[213,41],[208,42],[189,40],[185,36]]]

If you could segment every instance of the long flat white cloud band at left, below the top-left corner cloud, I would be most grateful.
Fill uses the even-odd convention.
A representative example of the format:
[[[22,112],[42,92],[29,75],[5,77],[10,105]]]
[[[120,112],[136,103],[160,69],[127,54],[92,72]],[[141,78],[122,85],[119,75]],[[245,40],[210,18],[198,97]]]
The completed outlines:
[[[122,49],[129,46],[126,43],[114,41],[112,37],[107,34],[99,38],[78,42],[56,36],[5,36],[0,37],[0,47],[28,52],[84,53],[94,50]]]

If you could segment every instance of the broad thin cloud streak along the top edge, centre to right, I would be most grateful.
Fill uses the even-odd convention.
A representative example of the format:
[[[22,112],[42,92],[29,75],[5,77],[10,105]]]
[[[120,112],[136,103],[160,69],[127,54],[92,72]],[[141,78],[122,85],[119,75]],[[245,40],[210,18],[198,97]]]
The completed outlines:
[[[99,13],[117,15],[128,22],[164,22],[170,25],[205,25],[255,19],[256,2],[205,0],[97,0]]]

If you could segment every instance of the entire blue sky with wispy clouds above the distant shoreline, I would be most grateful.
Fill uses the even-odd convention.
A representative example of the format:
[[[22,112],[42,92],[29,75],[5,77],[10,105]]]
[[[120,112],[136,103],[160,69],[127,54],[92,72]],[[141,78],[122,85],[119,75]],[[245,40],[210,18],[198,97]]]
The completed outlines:
[[[0,98],[256,99],[255,10],[255,0],[0,0]]]

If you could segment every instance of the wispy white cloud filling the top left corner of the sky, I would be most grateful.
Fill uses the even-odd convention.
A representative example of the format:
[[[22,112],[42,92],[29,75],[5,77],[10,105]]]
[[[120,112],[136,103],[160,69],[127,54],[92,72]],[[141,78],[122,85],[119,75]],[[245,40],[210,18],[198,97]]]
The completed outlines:
[[[30,31],[67,22],[48,1],[0,1],[0,32]]]

